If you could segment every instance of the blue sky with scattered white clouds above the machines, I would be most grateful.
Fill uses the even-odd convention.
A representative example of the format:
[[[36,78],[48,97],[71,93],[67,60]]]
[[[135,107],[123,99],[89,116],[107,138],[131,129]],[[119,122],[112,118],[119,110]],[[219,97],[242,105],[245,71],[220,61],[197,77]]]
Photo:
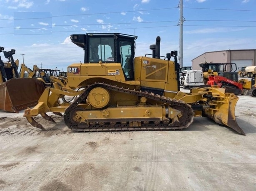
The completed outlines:
[[[135,56],[179,52],[180,0],[0,0],[0,47],[33,68],[83,62],[71,34],[135,34]],[[256,49],[256,0],[183,0],[183,66],[208,51]],[[23,55],[22,55],[23,54]],[[3,61],[3,53],[0,53]]]

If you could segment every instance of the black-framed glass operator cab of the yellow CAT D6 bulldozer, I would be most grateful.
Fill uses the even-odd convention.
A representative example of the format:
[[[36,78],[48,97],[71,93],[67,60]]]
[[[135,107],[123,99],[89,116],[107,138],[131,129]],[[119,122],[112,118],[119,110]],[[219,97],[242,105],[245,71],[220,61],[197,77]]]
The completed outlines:
[[[136,36],[107,34],[72,34],[71,41],[85,51],[84,63],[120,63],[125,80],[134,80],[133,59]]]

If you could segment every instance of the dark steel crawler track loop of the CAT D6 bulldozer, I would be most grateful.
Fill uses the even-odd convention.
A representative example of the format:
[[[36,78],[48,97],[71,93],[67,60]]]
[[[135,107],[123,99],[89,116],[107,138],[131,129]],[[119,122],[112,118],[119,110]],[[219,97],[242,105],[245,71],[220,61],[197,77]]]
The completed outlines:
[[[181,113],[183,115],[183,118],[181,122],[174,122],[173,124],[163,124],[162,122],[159,124],[154,124],[153,121],[149,122],[148,124],[141,123],[141,127],[129,127],[129,123],[125,124],[115,124],[115,125],[99,125],[97,121],[95,121],[95,125],[91,125],[90,127],[80,127],[77,122],[73,122],[71,119],[71,112],[74,110],[80,103],[82,103],[86,98],[88,97],[88,94],[93,88],[101,87],[105,88],[107,90],[112,91],[119,91],[122,93],[128,93],[136,96],[144,96],[147,99],[156,100],[158,103],[165,103],[166,106],[170,106],[172,108],[181,110]],[[136,91],[136,90],[130,90],[123,87],[118,86],[112,86],[110,84],[106,83],[94,83],[90,86],[88,86],[85,89],[85,92],[81,94],[78,98],[74,100],[73,103],[70,104],[70,106],[65,110],[65,113],[63,115],[65,124],[68,126],[68,128],[72,130],[77,131],[123,131],[123,130],[180,130],[187,128],[192,122],[193,122],[193,109],[190,105],[186,104],[182,100],[175,100],[171,98],[167,98],[165,96],[159,96],[155,95],[153,93],[148,93],[146,91]]]

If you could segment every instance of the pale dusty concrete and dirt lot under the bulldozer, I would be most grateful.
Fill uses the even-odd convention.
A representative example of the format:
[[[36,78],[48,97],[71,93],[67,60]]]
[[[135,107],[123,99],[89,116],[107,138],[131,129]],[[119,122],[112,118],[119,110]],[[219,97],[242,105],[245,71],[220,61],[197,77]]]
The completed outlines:
[[[239,96],[247,136],[195,118],[182,131],[78,133],[63,118],[48,131],[0,112],[0,190],[256,190],[256,98]]]

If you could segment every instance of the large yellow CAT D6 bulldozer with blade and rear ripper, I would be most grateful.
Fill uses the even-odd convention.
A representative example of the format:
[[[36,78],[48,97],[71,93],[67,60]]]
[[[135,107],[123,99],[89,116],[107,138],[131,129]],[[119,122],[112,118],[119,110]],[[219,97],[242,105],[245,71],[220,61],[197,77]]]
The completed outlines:
[[[34,119],[39,114],[55,122],[48,112],[63,114],[70,129],[83,132],[181,130],[194,117],[206,116],[245,135],[235,119],[236,95],[211,87],[179,91],[177,51],[160,55],[160,37],[150,46],[152,53],[137,57],[137,36],[95,33],[70,38],[85,53],[84,63],[68,66],[68,85],[78,90],[45,88],[38,105],[24,112],[34,127],[45,130]],[[61,103],[63,95],[78,97]]]

